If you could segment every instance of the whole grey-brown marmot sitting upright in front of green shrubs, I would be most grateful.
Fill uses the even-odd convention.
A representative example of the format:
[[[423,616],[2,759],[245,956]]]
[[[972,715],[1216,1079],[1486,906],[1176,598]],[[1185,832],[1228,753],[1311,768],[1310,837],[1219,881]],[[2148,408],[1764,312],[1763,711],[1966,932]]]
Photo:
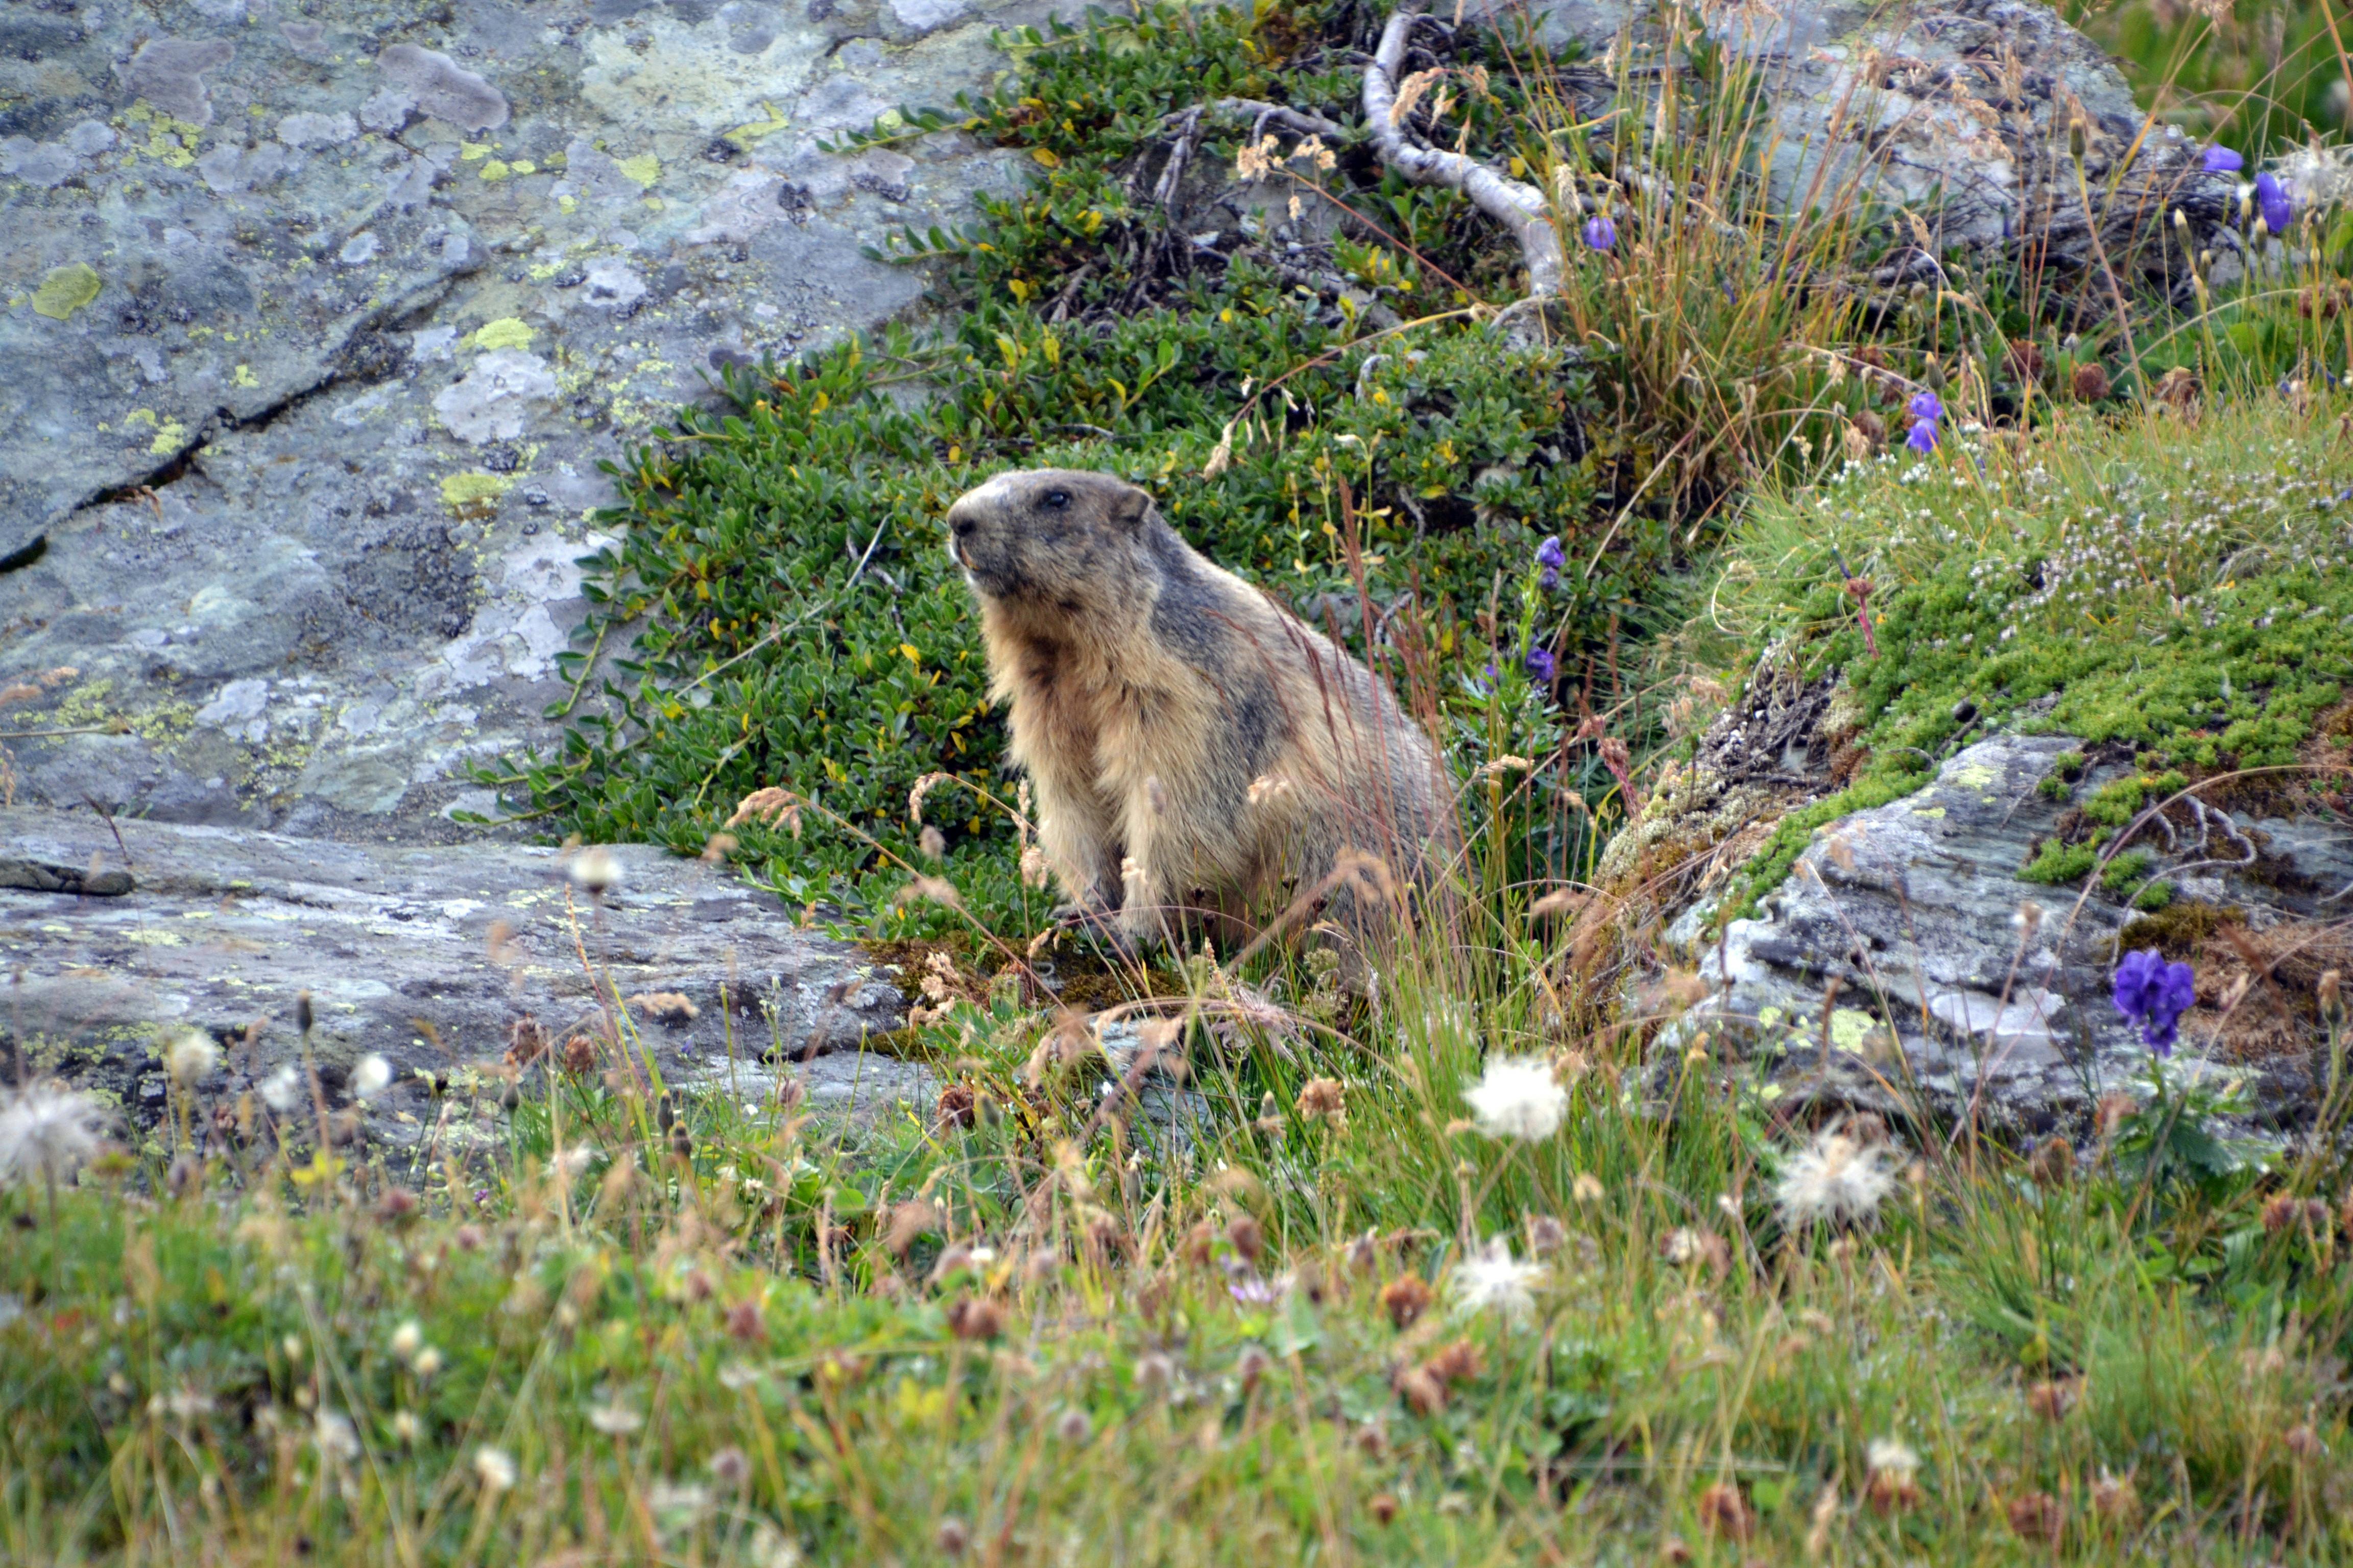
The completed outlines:
[[[1198,555],[1111,475],[1005,473],[948,508],[1038,844],[1132,943],[1282,907],[1344,851],[1402,891],[1454,846],[1428,736],[1327,637]],[[1360,926],[1369,889],[1327,889]]]

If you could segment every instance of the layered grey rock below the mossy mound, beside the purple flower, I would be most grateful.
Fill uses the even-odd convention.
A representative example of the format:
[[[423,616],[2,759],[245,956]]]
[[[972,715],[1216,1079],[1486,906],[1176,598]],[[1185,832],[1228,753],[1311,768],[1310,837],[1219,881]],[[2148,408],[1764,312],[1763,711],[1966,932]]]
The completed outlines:
[[[2082,832],[2080,802],[2134,776],[2129,757],[2097,755],[2061,773],[2078,755],[2064,736],[1979,741],[1918,795],[1819,827],[1762,917],[1720,940],[1706,896],[1668,910],[1668,950],[1711,987],[1671,1041],[1708,1030],[1786,1091],[1873,1110],[2080,1128],[2104,1093],[2146,1084],[2148,1048],[2108,978],[2120,950],[2155,945],[2200,983],[2174,1081],[2238,1074],[2252,1110],[2294,1117],[2311,1091],[2313,980],[2344,952],[2329,922],[2353,842],[2181,804],[2129,839],[2153,858],[2118,889],[2021,879],[2042,846]],[[2151,882],[2172,889],[2153,917],[2129,905]]]

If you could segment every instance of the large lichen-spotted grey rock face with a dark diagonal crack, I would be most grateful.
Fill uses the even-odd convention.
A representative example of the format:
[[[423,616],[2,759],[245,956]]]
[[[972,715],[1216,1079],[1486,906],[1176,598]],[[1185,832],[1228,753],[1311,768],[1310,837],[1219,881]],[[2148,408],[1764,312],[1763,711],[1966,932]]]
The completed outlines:
[[[551,738],[598,465],[911,310],[861,247],[1019,181],[819,141],[986,89],[1047,0],[5,12],[0,703],[73,733],[0,785],[384,842]]]

